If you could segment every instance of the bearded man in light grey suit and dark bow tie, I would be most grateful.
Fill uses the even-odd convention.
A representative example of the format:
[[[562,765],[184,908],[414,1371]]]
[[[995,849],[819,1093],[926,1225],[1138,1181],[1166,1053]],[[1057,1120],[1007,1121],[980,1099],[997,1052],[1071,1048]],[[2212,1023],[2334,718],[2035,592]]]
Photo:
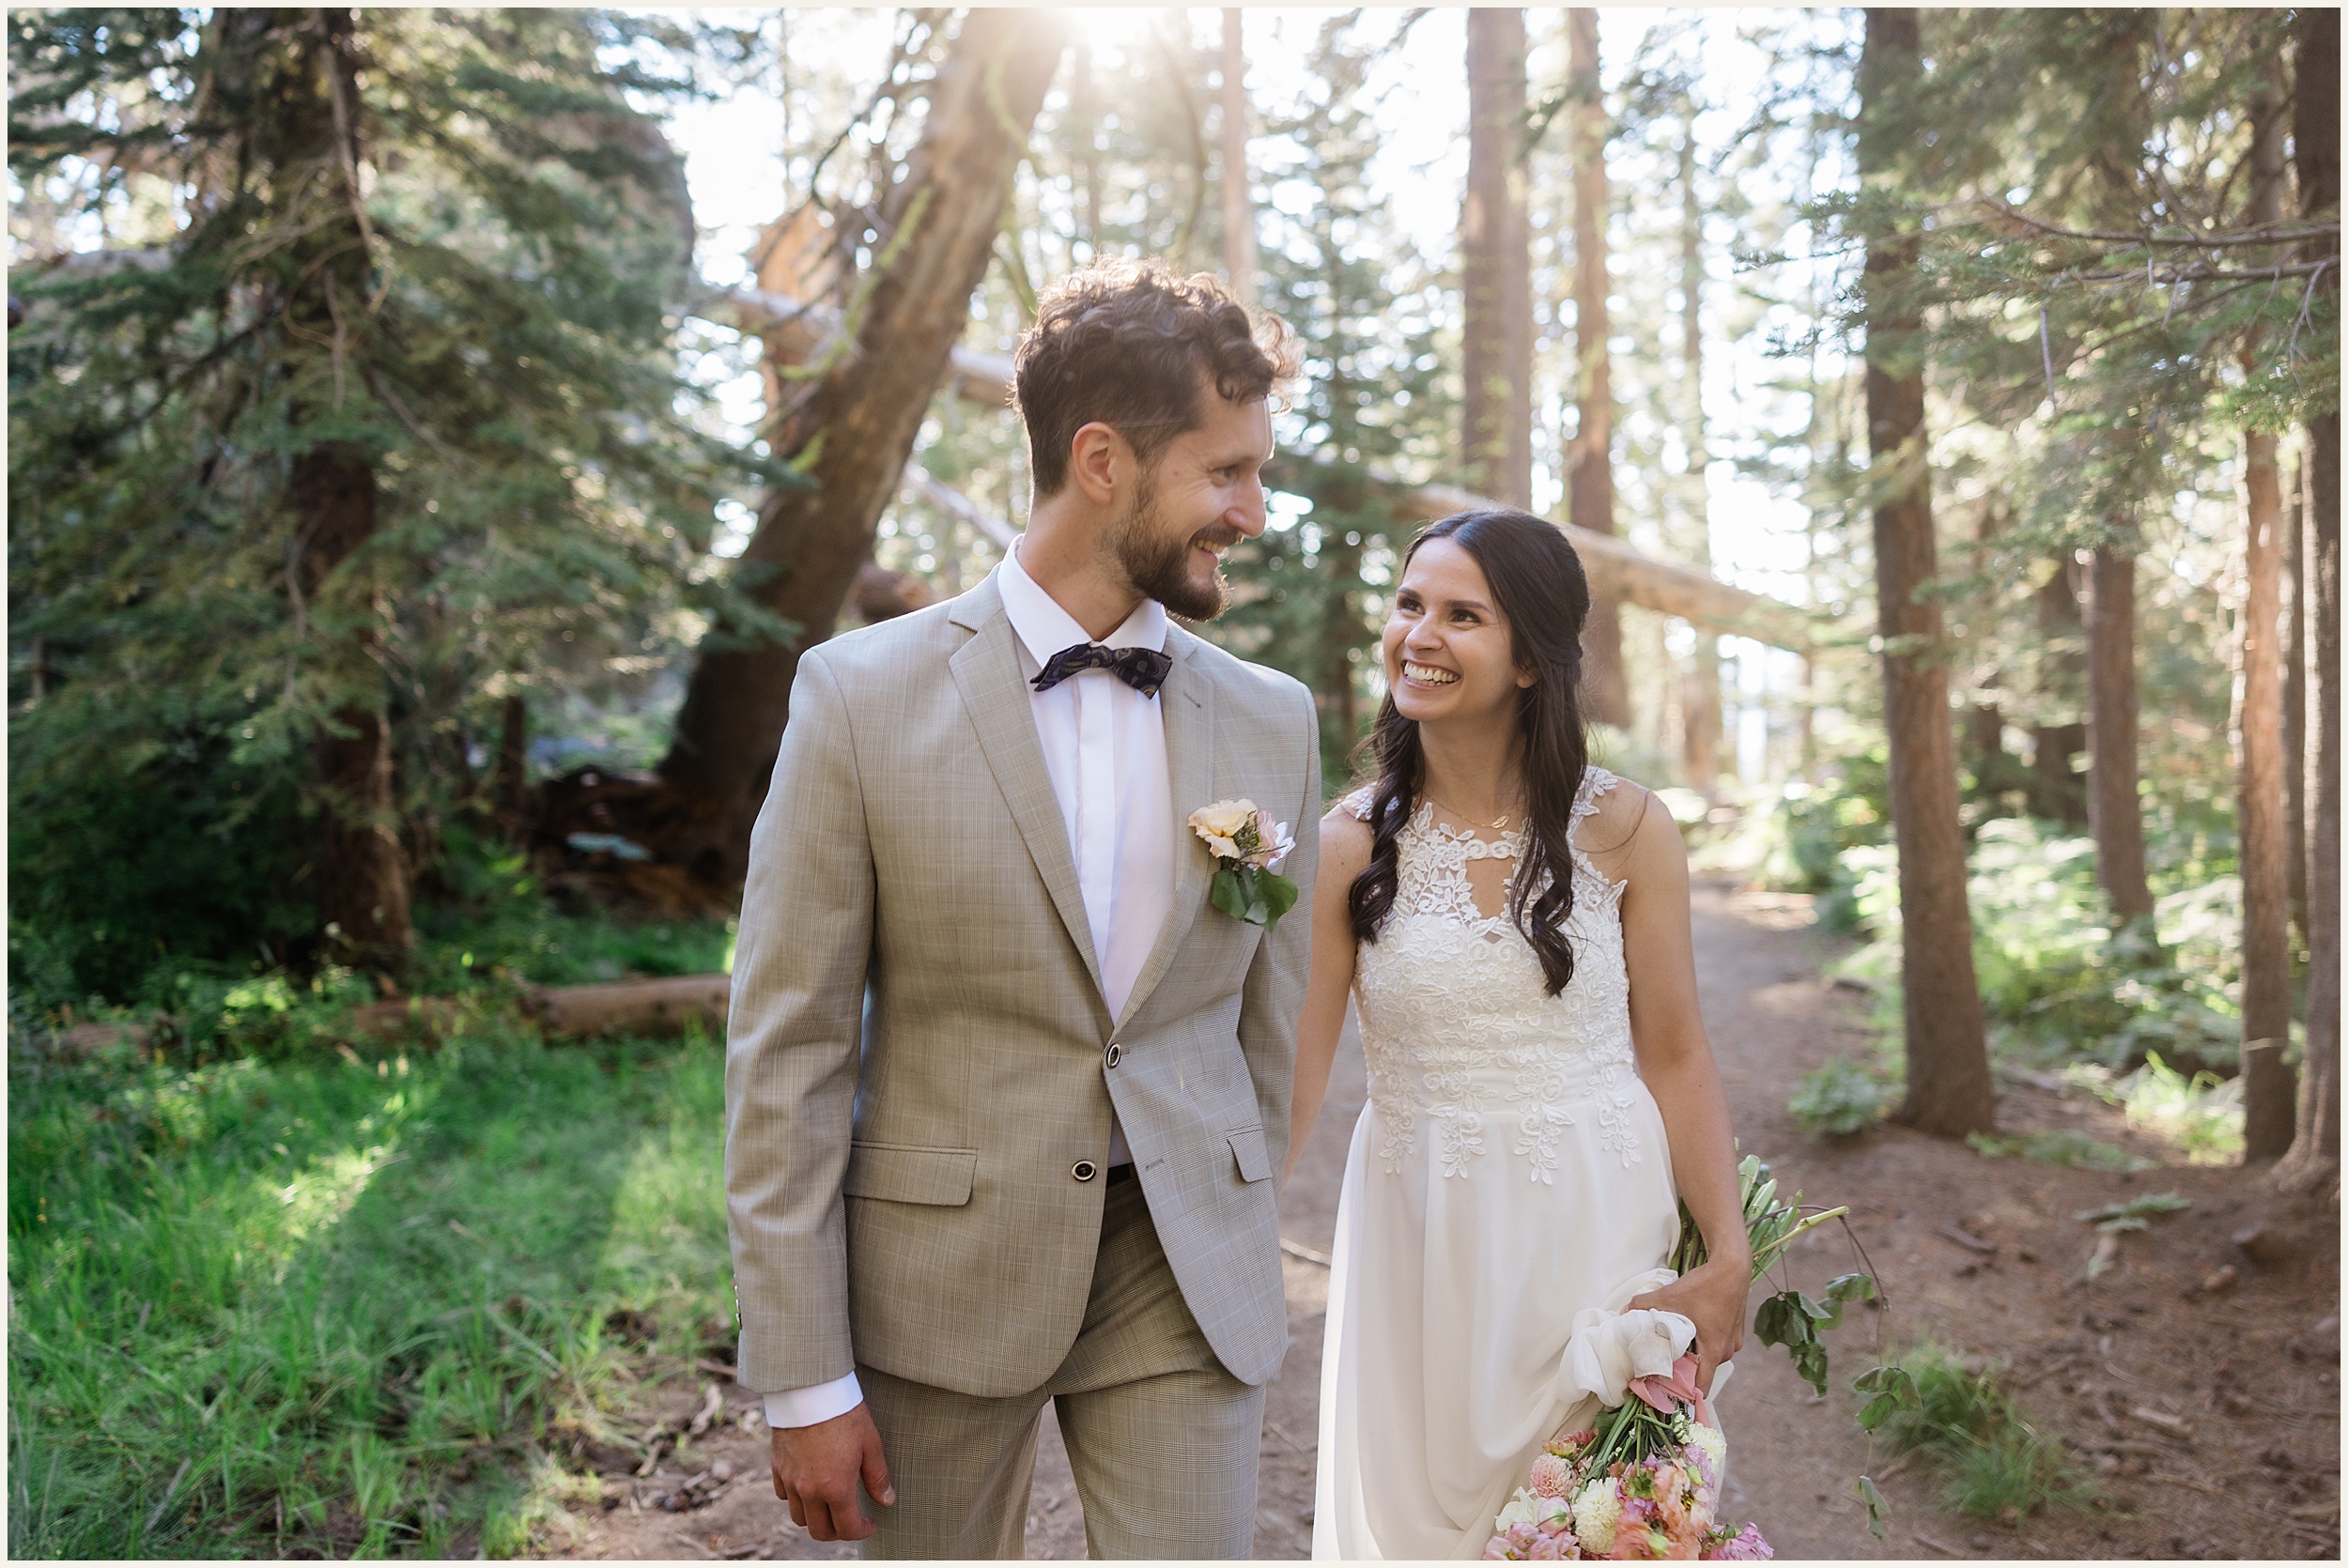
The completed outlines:
[[[1221,552],[1263,533],[1289,373],[1207,277],[1068,277],[1019,345],[1017,549],[801,657],[726,1199],[740,1378],[775,1390],[775,1491],[817,1540],[1021,1556],[1052,1399],[1094,1556],[1251,1549],[1310,920],[1212,908],[1183,819],[1294,824],[1310,906],[1317,732],[1298,683],[1169,613],[1216,615]]]

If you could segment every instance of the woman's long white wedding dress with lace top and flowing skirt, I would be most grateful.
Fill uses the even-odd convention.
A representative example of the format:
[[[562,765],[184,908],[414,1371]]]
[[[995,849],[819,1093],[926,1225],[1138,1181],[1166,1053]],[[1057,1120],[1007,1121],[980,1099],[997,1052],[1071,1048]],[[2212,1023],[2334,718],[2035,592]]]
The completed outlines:
[[[1578,840],[1618,784],[1573,803],[1573,981],[1477,908],[1468,861],[1522,833],[1402,831],[1395,908],[1355,969],[1369,1106],[1336,1211],[1313,1556],[1472,1559],[1559,1420],[1573,1314],[1620,1307],[1679,1235],[1662,1115],[1639,1082],[1625,883]],[[1345,803],[1369,815],[1369,791]],[[1594,1408],[1594,1406],[1592,1406]]]

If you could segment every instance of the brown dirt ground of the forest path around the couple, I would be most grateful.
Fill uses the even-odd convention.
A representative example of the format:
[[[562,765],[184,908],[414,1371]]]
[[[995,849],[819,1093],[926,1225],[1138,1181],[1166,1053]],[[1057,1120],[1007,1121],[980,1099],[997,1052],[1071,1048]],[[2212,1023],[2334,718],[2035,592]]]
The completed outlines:
[[[2339,1216],[2294,1207],[2256,1174],[2191,1167],[2130,1129],[2120,1110],[2040,1075],[2000,1077],[2005,1134],[2076,1129],[2158,1162],[2137,1174],[1986,1160],[1963,1143],[1883,1127],[1817,1143],[1787,1115],[1801,1073],[1867,1040],[1867,1000],[1824,979],[1843,939],[1817,932],[1806,897],[1695,890],[1705,1016],[1747,1153],[1813,1202],[1850,1204],[1885,1291],[1827,1336],[1834,1385],[1803,1385],[1787,1357],[1749,1343],[1721,1399],[1730,1441],[1726,1514],[1754,1519],[1784,1559],[2336,1559],[2339,1533]],[[1320,1338],[1336,1190],[1362,1108],[1359,1045],[1345,1052],[1305,1157],[1282,1199],[1289,1357],[1270,1387],[1256,1556],[1313,1545]],[[2078,1211],[2174,1190],[2191,1207],[2120,1237],[2087,1279],[2097,1232]],[[2263,1225],[2245,1251],[2235,1235]],[[1817,1291],[1853,1268],[1831,1228],[1796,1249],[1796,1284]],[[2231,1270],[2231,1272],[2221,1272]],[[2217,1289],[2207,1289],[2212,1277]],[[2026,1519],[1949,1512],[1923,1455],[1869,1448],[1850,1378],[1878,1352],[1939,1343],[1996,1368],[2031,1427],[2062,1444],[2092,1495]],[[674,1383],[674,1411],[704,1406]],[[606,1559],[836,1559],[775,1500],[765,1430],[751,1399],[716,1387],[723,1415],[664,1467],[615,1467],[601,1507],[580,1502],[566,1554]],[[1855,1476],[1890,1500],[1885,1537],[1867,1533]],[[667,1512],[662,1500],[679,1512]],[[1043,1422],[1028,1509],[1031,1559],[1085,1556],[1082,1507],[1059,1432]]]

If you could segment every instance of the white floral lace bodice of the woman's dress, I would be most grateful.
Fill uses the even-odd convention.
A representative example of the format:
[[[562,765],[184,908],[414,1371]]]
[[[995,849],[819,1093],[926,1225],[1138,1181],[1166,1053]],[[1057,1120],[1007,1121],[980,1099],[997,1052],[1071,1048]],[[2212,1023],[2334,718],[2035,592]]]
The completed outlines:
[[[1625,883],[1608,883],[1578,843],[1580,822],[1615,784],[1604,768],[1587,768],[1573,798],[1573,979],[1561,995],[1547,993],[1540,955],[1505,901],[1500,915],[1484,915],[1468,883],[1468,861],[1514,861],[1524,833],[1486,840],[1444,829],[1425,803],[1402,829],[1395,908],[1355,960],[1376,1153],[1390,1174],[1432,1136],[1444,1176],[1500,1153],[1550,1183],[1573,1127],[1594,1131],[1625,1167],[1641,1160],[1630,1115],[1637,1063]],[[1367,819],[1369,800],[1364,789],[1345,807]]]

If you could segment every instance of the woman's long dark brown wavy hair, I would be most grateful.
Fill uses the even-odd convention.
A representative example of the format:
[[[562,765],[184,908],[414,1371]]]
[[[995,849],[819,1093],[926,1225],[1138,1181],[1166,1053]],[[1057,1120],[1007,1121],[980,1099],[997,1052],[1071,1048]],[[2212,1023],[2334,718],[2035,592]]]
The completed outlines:
[[[1517,669],[1533,674],[1533,683],[1517,692],[1526,824],[1507,915],[1540,955],[1550,995],[1559,995],[1573,979],[1573,944],[1566,939],[1573,850],[1566,838],[1573,831],[1573,798],[1590,765],[1580,695],[1590,580],[1566,535],[1526,512],[1493,507],[1428,523],[1402,556],[1404,568],[1428,540],[1451,540],[1484,568],[1484,582],[1507,620]],[[1378,704],[1369,751],[1378,761],[1378,789],[1369,803],[1369,866],[1345,892],[1357,941],[1376,941],[1395,908],[1397,840],[1425,789],[1418,721],[1395,709],[1392,692]]]

